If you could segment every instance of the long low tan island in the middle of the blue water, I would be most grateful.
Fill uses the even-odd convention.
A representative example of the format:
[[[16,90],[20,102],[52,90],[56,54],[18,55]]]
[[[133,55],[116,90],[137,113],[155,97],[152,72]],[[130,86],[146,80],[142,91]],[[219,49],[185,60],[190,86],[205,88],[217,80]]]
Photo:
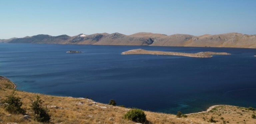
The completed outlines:
[[[150,51],[144,49],[133,49],[122,52],[122,54],[153,54],[153,55],[175,55],[175,56],[189,56],[189,57],[201,57],[209,58],[212,55],[230,55],[230,53],[225,52],[199,52],[199,53],[180,53],[180,52],[166,52],[166,51]]]

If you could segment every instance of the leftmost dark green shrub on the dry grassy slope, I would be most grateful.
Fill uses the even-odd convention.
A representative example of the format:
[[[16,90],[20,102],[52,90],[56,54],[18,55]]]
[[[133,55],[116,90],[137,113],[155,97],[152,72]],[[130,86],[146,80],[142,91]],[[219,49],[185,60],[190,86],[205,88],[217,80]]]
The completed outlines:
[[[25,114],[26,109],[21,108],[22,102],[21,98],[15,96],[15,90],[11,95],[6,96],[7,98],[3,100],[3,103],[8,103],[5,105],[5,110],[12,114]]]

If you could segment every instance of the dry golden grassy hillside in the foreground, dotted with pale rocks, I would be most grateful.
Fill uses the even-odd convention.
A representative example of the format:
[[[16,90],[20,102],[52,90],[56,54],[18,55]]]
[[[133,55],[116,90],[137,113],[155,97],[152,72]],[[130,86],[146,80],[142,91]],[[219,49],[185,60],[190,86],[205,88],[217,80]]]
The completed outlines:
[[[0,101],[6,99],[6,95],[10,95],[15,84],[7,78],[0,76]],[[31,111],[31,99],[36,99],[40,95],[44,101],[43,104],[48,107],[51,115],[50,123],[58,124],[91,124],[91,123],[107,123],[107,124],[130,124],[133,121],[124,119],[124,114],[131,108],[117,107],[102,103],[94,102],[86,98],[72,98],[49,96],[43,94],[29,93],[24,91],[16,91],[16,95],[23,102],[22,107],[26,107],[26,115],[30,118],[24,119],[21,114],[10,114],[0,106],[0,123],[19,123],[19,124],[36,124],[33,120]],[[154,124],[208,124],[212,118],[216,123],[248,123],[255,124],[256,119],[251,118],[251,114],[255,111],[248,110],[236,106],[218,106],[202,113],[189,114],[188,117],[177,118],[176,115],[156,113],[145,111],[148,123]],[[222,119],[222,117],[224,119]]]

